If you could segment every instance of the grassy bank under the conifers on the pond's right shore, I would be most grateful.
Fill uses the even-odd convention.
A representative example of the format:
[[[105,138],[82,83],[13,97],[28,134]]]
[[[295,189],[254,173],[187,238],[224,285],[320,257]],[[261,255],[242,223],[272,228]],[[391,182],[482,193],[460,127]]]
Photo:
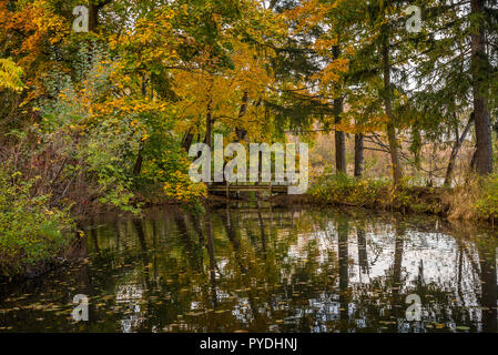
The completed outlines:
[[[308,200],[321,204],[427,213],[451,220],[494,223],[498,219],[498,175],[454,189],[416,186],[408,179],[394,186],[388,179],[329,175],[312,184]]]

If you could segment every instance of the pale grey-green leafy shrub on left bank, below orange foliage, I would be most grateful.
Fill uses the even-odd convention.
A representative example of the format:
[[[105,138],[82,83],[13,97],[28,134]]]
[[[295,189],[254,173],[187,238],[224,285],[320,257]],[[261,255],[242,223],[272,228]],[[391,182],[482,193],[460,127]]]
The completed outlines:
[[[74,63],[77,77],[85,78],[83,82],[74,82],[60,71],[47,75],[45,87],[57,99],[39,102],[43,119],[35,133],[45,141],[54,135],[65,138],[60,150],[72,163],[65,165],[63,175],[69,180],[87,176],[88,191],[80,195],[82,199],[139,213],[140,206],[133,203],[132,176],[133,155],[140,149],[140,132],[132,124],[136,115],[122,115],[120,121],[114,116],[94,120],[85,106],[88,98],[104,95],[110,88],[112,64],[105,60],[104,48],[89,52],[83,47]]]

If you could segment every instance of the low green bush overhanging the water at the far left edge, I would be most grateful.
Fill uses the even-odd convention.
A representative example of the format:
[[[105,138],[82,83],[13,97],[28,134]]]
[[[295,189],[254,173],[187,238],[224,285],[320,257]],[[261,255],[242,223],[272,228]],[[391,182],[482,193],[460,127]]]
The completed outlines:
[[[49,209],[48,195],[33,195],[35,183],[7,164],[0,166],[0,276],[52,261],[72,240],[68,211]]]

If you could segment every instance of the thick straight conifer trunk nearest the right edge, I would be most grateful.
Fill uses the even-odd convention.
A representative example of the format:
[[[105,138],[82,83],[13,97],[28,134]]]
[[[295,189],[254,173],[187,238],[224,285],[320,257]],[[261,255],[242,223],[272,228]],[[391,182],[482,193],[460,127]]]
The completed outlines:
[[[472,14],[484,14],[485,0],[471,0],[470,9]],[[476,168],[479,175],[487,175],[492,173],[492,138],[491,138],[491,122],[489,120],[489,111],[487,108],[487,54],[486,54],[486,30],[485,24],[477,29],[476,33],[471,36],[472,48],[472,89],[474,89],[474,113],[476,123],[476,139],[477,139],[477,161]]]

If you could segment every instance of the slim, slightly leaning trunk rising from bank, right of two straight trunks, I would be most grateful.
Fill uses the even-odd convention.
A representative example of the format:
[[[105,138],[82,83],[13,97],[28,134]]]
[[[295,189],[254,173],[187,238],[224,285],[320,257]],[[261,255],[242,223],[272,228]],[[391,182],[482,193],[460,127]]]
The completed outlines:
[[[384,104],[386,109],[387,138],[389,140],[390,161],[393,168],[393,178],[395,185],[398,185],[403,179],[403,170],[399,159],[399,146],[396,139],[396,126],[393,115],[393,90],[390,85],[390,59],[389,59],[389,37],[386,36],[383,43],[383,62],[384,62]]]

